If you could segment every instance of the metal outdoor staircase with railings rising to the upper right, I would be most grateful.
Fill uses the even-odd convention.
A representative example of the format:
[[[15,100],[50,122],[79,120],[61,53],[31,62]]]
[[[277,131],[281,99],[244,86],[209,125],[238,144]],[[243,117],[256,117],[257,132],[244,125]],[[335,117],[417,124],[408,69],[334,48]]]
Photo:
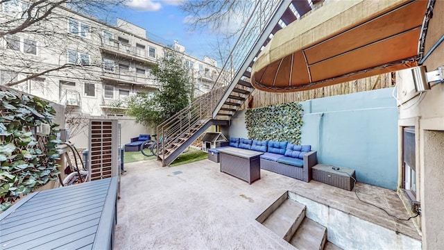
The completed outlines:
[[[308,1],[300,0],[255,2],[251,15],[212,90],[157,126],[157,136],[163,138],[162,142],[157,142],[157,148],[162,149],[159,159],[162,160],[163,166],[172,163],[210,126],[229,125],[231,117],[254,90],[250,84],[251,66],[262,47],[271,40],[270,34],[282,28],[279,22],[289,24],[297,19],[292,9],[296,9],[298,15],[302,16],[311,10],[311,7]],[[226,72],[236,74],[230,81],[223,81]]]

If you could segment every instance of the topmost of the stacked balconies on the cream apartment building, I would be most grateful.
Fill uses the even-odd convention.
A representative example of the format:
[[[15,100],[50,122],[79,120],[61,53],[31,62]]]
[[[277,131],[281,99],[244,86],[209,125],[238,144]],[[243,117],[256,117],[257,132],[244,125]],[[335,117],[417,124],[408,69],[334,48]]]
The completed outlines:
[[[149,63],[151,65],[157,63],[157,53],[150,53],[146,49],[134,47],[130,44],[116,42],[110,45],[102,43],[101,51],[105,53],[110,53],[114,56],[137,60],[142,63]]]

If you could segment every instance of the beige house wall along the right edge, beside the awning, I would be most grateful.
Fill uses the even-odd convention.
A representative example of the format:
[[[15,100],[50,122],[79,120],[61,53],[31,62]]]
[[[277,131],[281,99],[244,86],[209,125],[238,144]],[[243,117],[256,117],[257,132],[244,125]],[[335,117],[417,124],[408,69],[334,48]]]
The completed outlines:
[[[436,1],[433,18],[425,42],[427,53],[444,33],[444,1]],[[444,43],[429,56],[424,65],[427,72],[444,65]],[[412,80],[408,72],[398,74],[400,131],[402,126],[416,127],[417,199],[421,203],[422,249],[442,249],[444,246],[444,83],[432,85],[432,90],[410,99]],[[403,91],[405,91],[403,94]],[[406,97],[404,97],[406,96]],[[409,100],[408,100],[409,99]],[[408,100],[408,101],[407,101]],[[401,135],[401,132],[400,132]],[[402,185],[402,138],[400,149],[400,181]]]

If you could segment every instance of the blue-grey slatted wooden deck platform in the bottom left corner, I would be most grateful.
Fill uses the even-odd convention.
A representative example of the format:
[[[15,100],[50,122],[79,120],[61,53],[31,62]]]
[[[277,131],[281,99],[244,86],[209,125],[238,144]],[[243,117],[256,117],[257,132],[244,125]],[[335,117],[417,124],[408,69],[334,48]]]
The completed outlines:
[[[35,192],[0,214],[0,249],[112,249],[117,177]]]

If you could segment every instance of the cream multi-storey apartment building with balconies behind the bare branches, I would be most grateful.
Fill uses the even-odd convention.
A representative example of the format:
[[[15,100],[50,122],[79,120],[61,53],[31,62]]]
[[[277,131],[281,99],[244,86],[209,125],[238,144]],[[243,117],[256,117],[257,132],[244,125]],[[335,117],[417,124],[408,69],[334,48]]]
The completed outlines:
[[[23,18],[27,8],[25,1],[1,3],[0,22]],[[166,47],[174,47],[186,60],[195,95],[211,90],[221,72],[216,60],[190,56],[178,42],[147,38],[144,28],[123,19],[111,25],[59,7],[32,31],[0,40],[0,84],[19,81],[12,88],[85,115],[122,115],[124,107],[116,110],[115,101],[155,92],[158,83],[151,69]],[[41,75],[28,79],[35,74]]]

